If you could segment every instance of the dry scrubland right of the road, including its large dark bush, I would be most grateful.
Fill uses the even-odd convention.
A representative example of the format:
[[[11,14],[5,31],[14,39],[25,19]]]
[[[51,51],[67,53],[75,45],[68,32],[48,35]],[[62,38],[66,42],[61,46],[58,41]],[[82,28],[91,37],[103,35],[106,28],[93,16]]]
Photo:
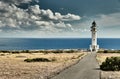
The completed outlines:
[[[120,79],[120,50],[102,50],[97,53],[101,79]]]

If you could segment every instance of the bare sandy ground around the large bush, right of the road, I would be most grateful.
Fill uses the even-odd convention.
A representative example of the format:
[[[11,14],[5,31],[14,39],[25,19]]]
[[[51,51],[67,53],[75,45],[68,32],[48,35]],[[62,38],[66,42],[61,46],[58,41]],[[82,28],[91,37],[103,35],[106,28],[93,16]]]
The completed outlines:
[[[120,57],[118,53],[98,53],[97,60],[99,64],[105,61],[106,57]],[[120,71],[101,71],[101,79],[120,79]]]

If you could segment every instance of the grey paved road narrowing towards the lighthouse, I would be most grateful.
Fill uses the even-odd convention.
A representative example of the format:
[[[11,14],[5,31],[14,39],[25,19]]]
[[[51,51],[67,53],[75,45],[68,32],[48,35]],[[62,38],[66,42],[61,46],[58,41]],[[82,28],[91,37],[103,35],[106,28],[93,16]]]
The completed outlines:
[[[96,53],[88,53],[78,64],[64,70],[52,79],[99,79]]]

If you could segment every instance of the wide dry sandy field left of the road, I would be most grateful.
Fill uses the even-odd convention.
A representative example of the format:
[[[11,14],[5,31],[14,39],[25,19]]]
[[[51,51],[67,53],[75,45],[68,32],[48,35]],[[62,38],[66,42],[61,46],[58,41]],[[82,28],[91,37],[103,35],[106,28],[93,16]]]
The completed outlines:
[[[84,53],[0,53],[0,79],[47,79],[76,63]],[[84,54],[85,55],[85,54]],[[55,59],[54,62],[24,62],[27,58]]]

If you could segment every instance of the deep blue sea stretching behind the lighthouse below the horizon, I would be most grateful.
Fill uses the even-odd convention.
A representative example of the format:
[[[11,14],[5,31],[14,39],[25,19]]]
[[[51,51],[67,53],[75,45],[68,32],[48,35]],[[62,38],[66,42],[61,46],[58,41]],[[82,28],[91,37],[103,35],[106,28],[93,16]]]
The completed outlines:
[[[0,38],[0,50],[89,49],[91,38]],[[98,38],[103,49],[120,50],[120,38]]]

